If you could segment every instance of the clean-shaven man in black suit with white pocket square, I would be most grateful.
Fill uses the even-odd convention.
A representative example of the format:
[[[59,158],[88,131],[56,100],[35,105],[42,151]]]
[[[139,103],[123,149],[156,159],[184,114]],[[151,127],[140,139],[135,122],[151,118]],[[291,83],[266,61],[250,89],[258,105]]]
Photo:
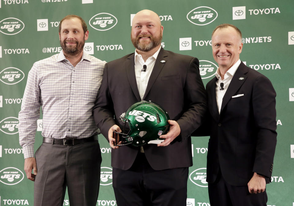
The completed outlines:
[[[266,206],[277,143],[276,92],[239,59],[242,34],[231,24],[212,33],[216,77],[206,85],[210,113],[207,179],[210,205]]]

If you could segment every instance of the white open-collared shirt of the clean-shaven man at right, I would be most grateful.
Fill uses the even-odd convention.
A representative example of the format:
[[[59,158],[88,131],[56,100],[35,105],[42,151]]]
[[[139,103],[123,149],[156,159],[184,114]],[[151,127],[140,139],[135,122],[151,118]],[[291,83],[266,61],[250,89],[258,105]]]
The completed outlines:
[[[232,81],[232,78],[238,69],[239,65],[241,63],[241,60],[239,59],[225,74],[224,74],[224,79],[221,79],[220,77],[220,68],[217,68],[217,72],[215,73],[215,76],[217,77],[216,81],[216,87],[215,87],[215,94],[217,98],[217,108],[218,108],[218,113],[220,113],[220,108],[221,108],[221,103],[224,98],[224,94],[227,91],[227,88],[229,87],[230,82]],[[224,89],[220,90],[220,83],[224,83]]]

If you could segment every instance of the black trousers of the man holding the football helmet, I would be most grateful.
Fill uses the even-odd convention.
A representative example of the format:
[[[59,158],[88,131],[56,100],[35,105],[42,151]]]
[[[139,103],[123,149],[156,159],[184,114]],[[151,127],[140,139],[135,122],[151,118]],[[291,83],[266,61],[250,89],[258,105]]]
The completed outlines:
[[[112,170],[117,205],[186,206],[188,173],[188,167],[153,170],[139,152],[129,170]]]

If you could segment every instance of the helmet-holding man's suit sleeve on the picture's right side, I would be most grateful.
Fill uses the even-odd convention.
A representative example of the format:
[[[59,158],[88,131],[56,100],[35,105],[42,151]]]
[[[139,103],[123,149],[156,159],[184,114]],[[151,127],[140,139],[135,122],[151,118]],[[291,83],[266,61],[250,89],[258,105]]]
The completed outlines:
[[[182,138],[185,138],[202,124],[207,110],[206,92],[199,73],[197,58],[190,61],[183,92],[186,111],[177,122]]]

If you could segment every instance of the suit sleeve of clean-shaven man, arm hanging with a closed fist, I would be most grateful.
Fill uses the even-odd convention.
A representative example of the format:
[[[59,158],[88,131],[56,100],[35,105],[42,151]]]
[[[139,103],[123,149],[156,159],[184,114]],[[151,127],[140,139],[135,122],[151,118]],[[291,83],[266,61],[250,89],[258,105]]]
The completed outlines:
[[[276,92],[268,78],[256,79],[252,92],[257,144],[253,172],[271,177],[277,144]]]

